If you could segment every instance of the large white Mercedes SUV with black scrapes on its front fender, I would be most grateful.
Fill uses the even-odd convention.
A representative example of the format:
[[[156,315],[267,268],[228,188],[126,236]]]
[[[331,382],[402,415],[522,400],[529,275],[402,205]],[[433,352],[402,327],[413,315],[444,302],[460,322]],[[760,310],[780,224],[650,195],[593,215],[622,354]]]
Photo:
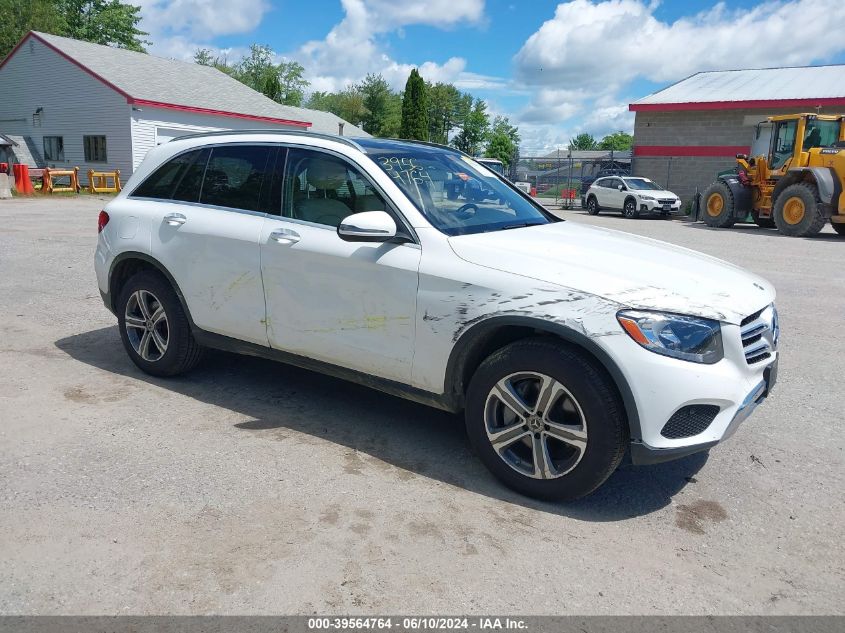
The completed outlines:
[[[453,200],[455,177],[495,196]],[[776,378],[775,293],[683,248],[564,222],[472,158],[295,132],[176,139],[99,218],[97,280],[145,372],[204,348],[448,411],[507,485],[572,499],[706,450]]]

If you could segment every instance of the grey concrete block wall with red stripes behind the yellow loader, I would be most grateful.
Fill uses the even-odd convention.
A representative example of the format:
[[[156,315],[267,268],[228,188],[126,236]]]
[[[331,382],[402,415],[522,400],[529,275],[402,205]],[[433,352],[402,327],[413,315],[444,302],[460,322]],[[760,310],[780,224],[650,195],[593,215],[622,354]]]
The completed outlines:
[[[822,108],[821,113],[841,114],[841,110]],[[802,111],[815,112],[816,108],[637,112],[632,171],[671,189],[687,202],[696,187],[703,191],[718,172],[736,165],[734,156],[641,156],[637,155],[638,146],[744,146],[748,151],[756,123],[768,116]]]

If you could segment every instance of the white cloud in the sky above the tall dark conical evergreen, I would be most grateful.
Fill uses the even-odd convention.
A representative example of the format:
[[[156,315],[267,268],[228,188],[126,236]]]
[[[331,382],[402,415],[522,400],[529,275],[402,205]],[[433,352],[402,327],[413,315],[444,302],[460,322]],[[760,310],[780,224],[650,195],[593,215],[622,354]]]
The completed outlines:
[[[342,0],[341,4],[344,18],[325,39],[307,42],[288,54],[305,67],[312,90],[340,90],[368,73],[381,73],[393,88],[401,89],[412,68],[419,68],[428,81],[453,82],[463,89],[502,83],[494,77],[467,72],[462,57],[452,57],[442,64],[398,62],[387,54],[380,41],[385,33],[401,32],[412,24],[441,29],[480,24],[484,18],[484,0],[429,0],[408,4],[390,0]]]

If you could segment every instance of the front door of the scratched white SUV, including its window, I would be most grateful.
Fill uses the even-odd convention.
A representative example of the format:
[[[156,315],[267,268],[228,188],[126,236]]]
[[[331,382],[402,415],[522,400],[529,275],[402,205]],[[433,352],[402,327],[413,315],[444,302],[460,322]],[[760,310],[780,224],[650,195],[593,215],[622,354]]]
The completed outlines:
[[[340,221],[386,210],[361,170],[327,152],[288,152],[282,213],[261,231],[273,348],[407,382],[414,351],[420,247],[345,242]]]

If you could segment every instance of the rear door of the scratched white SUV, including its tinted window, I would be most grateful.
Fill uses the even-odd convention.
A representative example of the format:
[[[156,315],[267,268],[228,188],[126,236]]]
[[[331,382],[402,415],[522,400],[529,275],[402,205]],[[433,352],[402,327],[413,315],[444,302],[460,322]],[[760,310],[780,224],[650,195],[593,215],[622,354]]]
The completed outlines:
[[[278,148],[226,144],[188,154],[177,157],[188,164],[170,200],[158,203],[152,255],[198,327],[267,345],[258,240]]]

